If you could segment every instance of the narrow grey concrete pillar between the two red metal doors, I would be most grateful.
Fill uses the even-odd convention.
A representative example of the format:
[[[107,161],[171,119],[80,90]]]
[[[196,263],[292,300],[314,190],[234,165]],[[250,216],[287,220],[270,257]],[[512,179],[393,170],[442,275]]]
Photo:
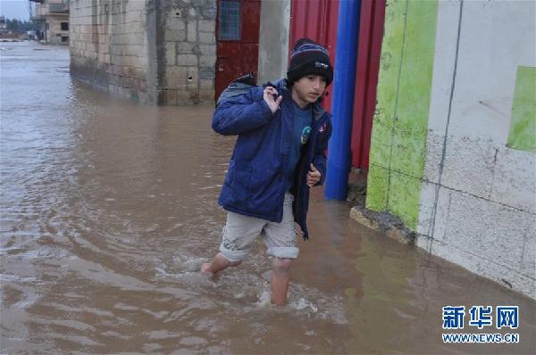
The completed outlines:
[[[285,78],[289,62],[290,0],[261,3],[257,84]]]

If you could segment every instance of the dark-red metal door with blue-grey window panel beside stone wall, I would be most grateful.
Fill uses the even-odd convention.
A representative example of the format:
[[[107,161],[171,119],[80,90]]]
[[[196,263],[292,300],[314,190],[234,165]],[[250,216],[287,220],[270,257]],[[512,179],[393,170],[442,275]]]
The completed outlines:
[[[218,0],[216,100],[229,83],[258,70],[260,0]]]

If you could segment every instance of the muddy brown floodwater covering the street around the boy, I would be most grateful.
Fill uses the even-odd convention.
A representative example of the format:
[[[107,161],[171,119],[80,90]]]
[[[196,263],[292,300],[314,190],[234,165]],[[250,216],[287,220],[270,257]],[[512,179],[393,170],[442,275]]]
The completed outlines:
[[[148,107],[71,78],[69,49],[0,44],[0,352],[530,354],[535,302],[348,219],[315,188],[289,305],[270,305],[256,244],[221,243],[232,136],[212,105]],[[515,344],[445,344],[441,308],[517,305]],[[456,333],[456,332],[452,332]]]

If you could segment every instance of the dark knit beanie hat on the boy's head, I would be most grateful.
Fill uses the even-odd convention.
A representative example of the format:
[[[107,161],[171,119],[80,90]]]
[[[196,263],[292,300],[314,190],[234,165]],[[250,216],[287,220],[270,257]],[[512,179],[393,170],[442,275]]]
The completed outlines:
[[[322,75],[326,79],[326,87],[333,80],[333,67],[328,51],[309,38],[300,38],[290,52],[287,78],[290,85],[306,75]]]

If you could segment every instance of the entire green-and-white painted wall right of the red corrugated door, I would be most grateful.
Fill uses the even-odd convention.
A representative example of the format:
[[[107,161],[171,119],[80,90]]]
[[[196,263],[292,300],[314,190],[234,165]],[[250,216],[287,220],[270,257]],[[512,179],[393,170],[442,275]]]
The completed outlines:
[[[416,3],[388,1],[367,207],[536,298],[536,4]]]

